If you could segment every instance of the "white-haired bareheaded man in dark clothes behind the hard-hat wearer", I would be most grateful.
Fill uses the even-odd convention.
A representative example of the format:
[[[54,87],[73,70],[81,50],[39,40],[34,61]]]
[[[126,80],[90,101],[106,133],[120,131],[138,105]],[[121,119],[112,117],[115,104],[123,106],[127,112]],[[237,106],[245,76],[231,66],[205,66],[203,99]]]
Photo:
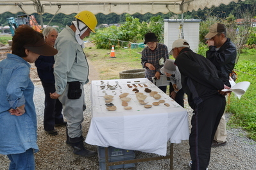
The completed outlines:
[[[51,26],[48,26],[43,31],[44,40],[48,45],[54,47],[58,31]],[[50,97],[49,93],[54,93],[55,76],[53,75],[55,59],[54,56],[39,56],[35,61],[37,73],[44,88],[44,130],[46,134],[58,135],[55,127],[65,127],[67,122],[64,121],[62,115],[62,104],[58,99]]]

